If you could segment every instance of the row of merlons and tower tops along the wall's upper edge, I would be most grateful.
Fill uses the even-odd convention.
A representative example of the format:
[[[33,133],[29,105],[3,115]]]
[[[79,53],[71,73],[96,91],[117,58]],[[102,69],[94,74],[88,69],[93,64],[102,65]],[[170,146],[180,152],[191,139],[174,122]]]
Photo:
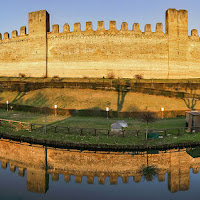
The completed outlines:
[[[198,38],[198,33],[195,32],[195,30],[191,31],[191,37],[188,36],[188,12],[187,10],[176,10],[176,9],[168,9],[166,11],[166,30],[163,32],[163,25],[162,23],[156,24],[156,30],[153,31],[151,28],[151,24],[146,24],[144,27],[144,32],[141,31],[140,25],[138,23],[133,24],[132,30],[128,29],[128,23],[122,22],[121,29],[118,30],[116,27],[117,22],[116,21],[110,21],[109,29],[106,30],[104,26],[104,21],[98,21],[97,30],[93,29],[93,23],[91,21],[86,22],[86,30],[81,30],[81,24],[75,23],[74,24],[74,31],[70,31],[70,26],[68,23],[64,24],[63,31],[59,31],[59,25],[55,24],[52,26],[52,32],[49,30],[49,14],[45,10],[36,11],[29,13],[29,34],[26,33],[26,27],[22,26],[20,28],[20,35],[18,35],[18,32],[14,30],[11,34],[11,38],[9,37],[9,34],[6,32],[4,34],[4,37],[0,37],[0,40],[6,40],[6,39],[14,39],[21,36],[39,36],[41,31],[43,33],[48,33],[50,35],[54,34],[82,34],[82,35],[120,35],[120,34],[127,34],[127,35],[141,35],[144,36],[164,36],[169,35],[170,37],[175,37],[177,34],[179,37],[188,37],[192,39]],[[40,28],[41,27],[41,28]],[[43,27],[43,28],[42,28]],[[42,33],[42,34],[43,34]]]

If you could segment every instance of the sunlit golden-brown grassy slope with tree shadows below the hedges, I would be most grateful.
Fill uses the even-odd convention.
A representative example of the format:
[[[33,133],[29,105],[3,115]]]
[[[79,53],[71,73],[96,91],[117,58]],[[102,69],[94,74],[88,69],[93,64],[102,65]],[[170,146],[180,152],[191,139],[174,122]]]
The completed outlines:
[[[58,108],[76,110],[105,110],[106,107],[112,111],[122,112],[144,111],[146,109],[160,111],[161,107],[164,107],[165,110],[188,109],[183,99],[92,89],[46,88],[28,93],[0,92],[0,103],[6,103],[6,101],[11,104],[49,108],[54,108],[56,104]],[[196,103],[195,108],[200,108],[200,102]]]

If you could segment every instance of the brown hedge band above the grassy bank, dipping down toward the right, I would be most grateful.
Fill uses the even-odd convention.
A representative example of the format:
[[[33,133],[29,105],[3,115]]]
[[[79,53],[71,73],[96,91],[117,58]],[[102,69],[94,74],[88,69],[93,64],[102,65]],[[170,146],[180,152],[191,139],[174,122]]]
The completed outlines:
[[[160,84],[160,83],[158,83]],[[156,84],[157,85],[157,84]],[[3,91],[19,91],[19,92],[28,92],[31,90],[37,90],[42,88],[76,88],[76,89],[100,89],[100,90],[114,90],[118,92],[138,92],[149,95],[158,95],[174,98],[189,98],[191,94],[178,91],[169,91],[164,89],[158,89],[156,87],[147,87],[148,84],[135,84],[130,85],[129,83],[125,85],[111,85],[106,83],[86,83],[86,82],[46,82],[46,83],[27,83],[27,82],[14,82],[14,81],[1,81],[0,82],[0,92]],[[200,87],[200,85],[199,85]],[[199,99],[199,95],[194,94],[192,96]]]

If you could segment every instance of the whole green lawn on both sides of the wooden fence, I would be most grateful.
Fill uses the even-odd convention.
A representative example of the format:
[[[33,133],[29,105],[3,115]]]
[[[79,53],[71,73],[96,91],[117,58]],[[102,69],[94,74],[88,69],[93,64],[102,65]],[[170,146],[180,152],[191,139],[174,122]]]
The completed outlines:
[[[26,113],[5,110],[0,110],[1,119],[10,119],[16,121],[24,121],[30,123],[44,124],[45,116],[37,113]],[[79,143],[91,143],[91,144],[117,144],[117,145],[163,145],[171,143],[181,142],[197,142],[200,141],[199,133],[187,133],[185,130],[181,130],[181,135],[178,136],[177,128],[184,128],[185,118],[170,118],[170,119],[159,119],[154,123],[145,123],[138,119],[123,119],[128,123],[128,128],[125,131],[125,137],[122,134],[113,135],[110,133],[108,136],[107,129],[110,125],[119,119],[106,119],[106,118],[95,118],[95,117],[63,117],[49,115],[46,117],[47,130],[44,132],[43,126],[37,126],[32,132],[26,130],[16,130],[16,128],[6,126],[2,124],[0,126],[0,132],[10,133],[13,135],[32,137],[38,139],[49,139],[56,141],[69,141]],[[57,127],[55,132],[54,127]],[[59,127],[61,126],[61,127]],[[65,128],[62,128],[65,127]],[[68,132],[67,127],[76,127],[76,129],[70,129]],[[82,135],[80,135],[80,128],[84,128]],[[146,129],[174,129],[168,130],[165,135],[164,132],[160,132],[159,135],[163,138],[146,140],[145,134]],[[95,129],[97,130],[96,135]],[[138,135],[136,129],[140,129]]]

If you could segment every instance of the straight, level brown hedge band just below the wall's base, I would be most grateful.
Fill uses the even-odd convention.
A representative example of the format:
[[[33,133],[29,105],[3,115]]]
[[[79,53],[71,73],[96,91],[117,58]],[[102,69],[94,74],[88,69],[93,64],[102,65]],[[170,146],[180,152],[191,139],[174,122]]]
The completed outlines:
[[[179,91],[180,89],[198,89],[200,88],[200,83],[131,83],[126,81],[125,83],[111,80],[108,82],[59,82],[59,81],[49,81],[49,82],[25,82],[25,81],[0,81],[0,88],[2,90],[12,90],[12,91],[23,91],[27,92],[30,90],[37,90],[42,88],[82,88],[82,89],[98,89],[98,88],[116,88],[118,85],[131,87],[131,88],[153,88],[156,90],[168,90],[173,89]]]

